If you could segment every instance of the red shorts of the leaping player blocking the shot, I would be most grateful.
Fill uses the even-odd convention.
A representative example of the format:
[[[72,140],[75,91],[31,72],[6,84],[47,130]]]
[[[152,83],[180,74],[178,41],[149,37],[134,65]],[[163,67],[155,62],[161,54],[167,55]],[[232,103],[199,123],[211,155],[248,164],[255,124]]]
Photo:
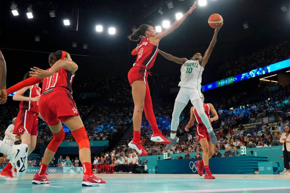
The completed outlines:
[[[133,66],[128,72],[128,80],[129,80],[130,86],[132,86],[132,83],[135,80],[144,81],[145,84],[147,85],[147,77],[148,77],[147,69],[144,67],[141,67],[138,64],[136,66]]]

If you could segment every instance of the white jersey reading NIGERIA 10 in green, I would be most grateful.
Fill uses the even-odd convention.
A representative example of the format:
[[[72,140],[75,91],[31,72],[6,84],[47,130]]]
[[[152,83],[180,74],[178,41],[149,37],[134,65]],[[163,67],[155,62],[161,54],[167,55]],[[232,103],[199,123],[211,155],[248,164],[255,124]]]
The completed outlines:
[[[201,90],[203,70],[204,68],[199,64],[199,60],[187,60],[181,66],[181,81],[178,86]]]

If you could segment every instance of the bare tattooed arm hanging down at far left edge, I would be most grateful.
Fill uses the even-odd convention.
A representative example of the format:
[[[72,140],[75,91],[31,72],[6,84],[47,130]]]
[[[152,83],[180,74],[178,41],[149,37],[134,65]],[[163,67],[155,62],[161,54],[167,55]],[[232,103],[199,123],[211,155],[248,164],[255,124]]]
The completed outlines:
[[[2,52],[0,51],[0,104],[7,101],[6,91],[6,63]]]

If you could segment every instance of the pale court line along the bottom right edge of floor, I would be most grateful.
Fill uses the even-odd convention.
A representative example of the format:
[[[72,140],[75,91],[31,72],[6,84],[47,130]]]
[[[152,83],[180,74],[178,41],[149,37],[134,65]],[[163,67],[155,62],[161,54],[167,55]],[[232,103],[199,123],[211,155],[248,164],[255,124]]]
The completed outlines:
[[[271,187],[271,188],[236,188],[236,189],[213,189],[213,190],[182,190],[182,191],[166,191],[166,193],[207,193],[207,192],[236,192],[236,191],[249,191],[249,190],[284,190],[290,187]],[[133,193],[164,193],[162,192],[133,192]]]

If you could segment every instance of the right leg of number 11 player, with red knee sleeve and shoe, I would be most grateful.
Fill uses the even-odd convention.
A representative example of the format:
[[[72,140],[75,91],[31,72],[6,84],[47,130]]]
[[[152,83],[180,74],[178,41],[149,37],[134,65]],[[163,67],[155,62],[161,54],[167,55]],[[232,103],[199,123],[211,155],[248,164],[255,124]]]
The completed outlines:
[[[63,121],[63,123],[70,129],[79,146],[80,162],[83,164],[84,173],[82,186],[106,185],[106,181],[94,176],[94,172],[92,171],[90,142],[80,116],[73,116]]]

